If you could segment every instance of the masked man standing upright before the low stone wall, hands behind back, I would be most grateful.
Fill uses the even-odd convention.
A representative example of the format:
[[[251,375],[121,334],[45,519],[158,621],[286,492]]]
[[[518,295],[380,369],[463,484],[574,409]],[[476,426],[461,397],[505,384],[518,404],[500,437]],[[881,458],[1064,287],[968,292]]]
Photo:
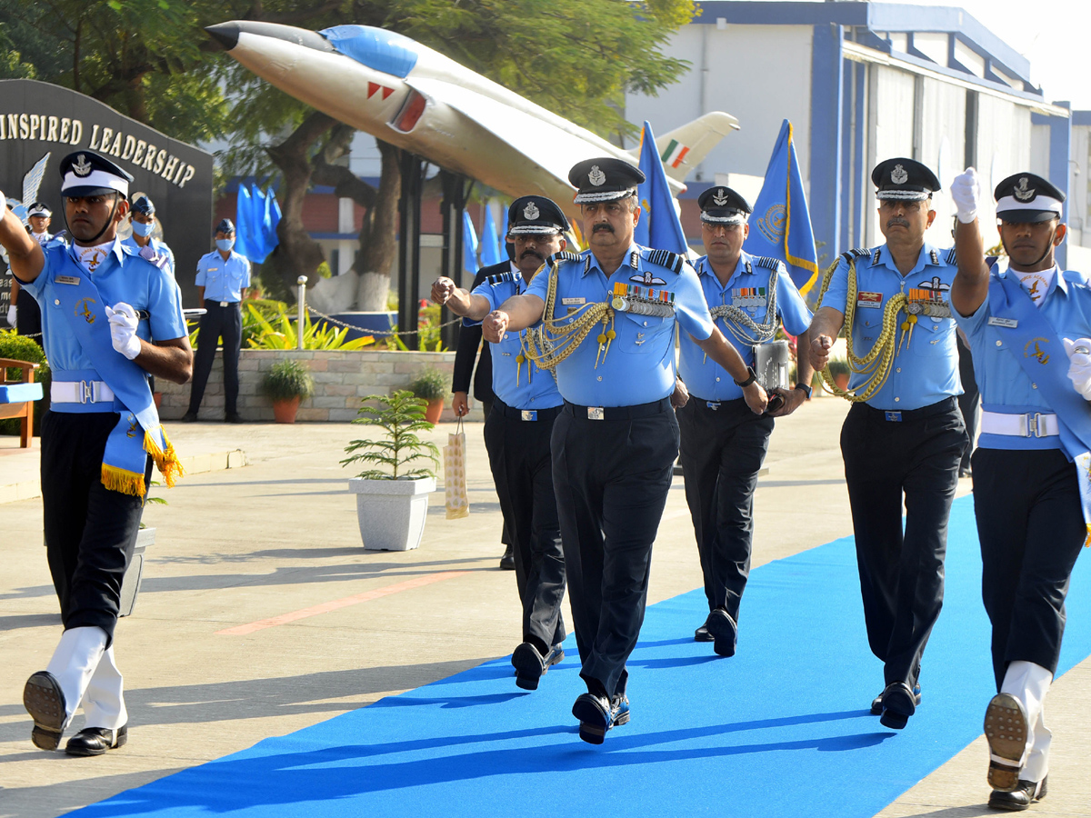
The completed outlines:
[[[242,299],[250,286],[250,262],[235,246],[235,224],[223,219],[216,225],[216,249],[197,261],[197,291],[205,314],[201,316],[190,408],[183,423],[197,419],[204,387],[216,358],[216,346],[224,339],[224,417],[228,423],[244,423],[239,416],[239,349],[242,346]]]

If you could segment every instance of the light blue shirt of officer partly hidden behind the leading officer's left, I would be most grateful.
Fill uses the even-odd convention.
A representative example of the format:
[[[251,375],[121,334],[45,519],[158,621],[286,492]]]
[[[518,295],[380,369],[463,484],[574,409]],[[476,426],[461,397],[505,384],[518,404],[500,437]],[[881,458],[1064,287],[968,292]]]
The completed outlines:
[[[548,268],[546,268],[548,269]],[[546,270],[543,269],[542,273]],[[541,275],[541,274],[539,274]],[[523,274],[517,269],[489,276],[473,288],[475,296],[481,296],[489,301],[489,312],[492,312],[512,296],[520,296],[526,289]],[[466,326],[480,324],[478,321],[464,320]],[[514,409],[549,409],[561,406],[561,393],[556,390],[556,381],[548,370],[540,370],[530,360],[518,362],[523,354],[519,340],[526,335],[507,333],[504,340],[492,345],[492,392],[502,401]]]

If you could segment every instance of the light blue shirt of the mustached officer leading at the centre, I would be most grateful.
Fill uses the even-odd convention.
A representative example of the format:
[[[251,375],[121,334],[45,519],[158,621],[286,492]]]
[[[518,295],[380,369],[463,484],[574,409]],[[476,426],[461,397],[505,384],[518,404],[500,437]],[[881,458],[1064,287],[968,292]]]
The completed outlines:
[[[704,340],[712,334],[712,316],[700,291],[697,274],[688,263],[675,273],[647,256],[651,251],[630,246],[625,262],[607,276],[595,254],[585,250],[578,262],[561,262],[553,317],[562,320],[583,304],[609,301],[615,282],[664,290],[673,297],[674,315],[656,317],[615,311],[611,341],[604,358],[596,336],[610,329],[597,324],[584,342],[556,365],[556,384],[565,400],[577,406],[638,406],[661,400],[674,392],[674,327]],[[676,256],[674,256],[676,257]],[[546,300],[549,269],[535,276],[527,293]],[[596,369],[596,356],[599,364]]]

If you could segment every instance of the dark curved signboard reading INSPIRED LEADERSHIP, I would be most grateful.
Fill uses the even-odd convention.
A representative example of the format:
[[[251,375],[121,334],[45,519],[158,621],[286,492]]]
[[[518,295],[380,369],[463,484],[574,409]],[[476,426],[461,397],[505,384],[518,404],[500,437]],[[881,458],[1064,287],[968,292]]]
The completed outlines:
[[[182,300],[196,306],[197,258],[213,249],[212,154],[59,85],[0,81],[0,190],[23,207],[33,202],[49,205],[50,232],[67,229],[60,160],[81,148],[108,156],[128,170],[134,178],[130,192],[146,193],[155,203],[161,238],[175,252]],[[32,201],[23,202],[24,190]],[[122,232],[129,233],[128,222]],[[0,293],[7,312],[4,294],[7,288]],[[2,315],[0,325],[7,325]]]

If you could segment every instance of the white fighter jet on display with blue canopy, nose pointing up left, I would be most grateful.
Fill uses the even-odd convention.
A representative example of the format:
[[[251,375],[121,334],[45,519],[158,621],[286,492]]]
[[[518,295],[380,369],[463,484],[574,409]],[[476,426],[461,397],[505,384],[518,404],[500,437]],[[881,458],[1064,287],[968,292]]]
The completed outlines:
[[[627,152],[395,32],[339,25],[310,32],[233,21],[206,29],[240,63],[346,124],[513,197],[532,193],[570,215],[568,169]],[[706,113],[656,140],[674,195],[738,120]]]

